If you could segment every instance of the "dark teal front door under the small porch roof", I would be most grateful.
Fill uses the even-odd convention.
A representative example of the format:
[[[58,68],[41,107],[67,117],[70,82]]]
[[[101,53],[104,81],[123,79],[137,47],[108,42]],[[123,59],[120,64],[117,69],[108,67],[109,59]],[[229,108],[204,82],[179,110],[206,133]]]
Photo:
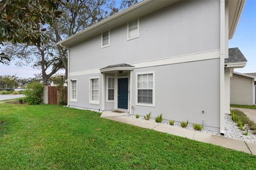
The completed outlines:
[[[118,108],[128,109],[128,78],[118,79]]]

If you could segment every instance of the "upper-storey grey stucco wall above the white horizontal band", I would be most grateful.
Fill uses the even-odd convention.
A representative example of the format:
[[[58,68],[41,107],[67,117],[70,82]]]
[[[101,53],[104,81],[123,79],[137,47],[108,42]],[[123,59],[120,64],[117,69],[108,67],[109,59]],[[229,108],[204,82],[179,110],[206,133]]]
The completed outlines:
[[[110,30],[110,46],[101,34],[69,48],[70,70],[134,63],[220,48],[219,1],[180,1],[140,18],[140,37],[127,41],[127,24]]]

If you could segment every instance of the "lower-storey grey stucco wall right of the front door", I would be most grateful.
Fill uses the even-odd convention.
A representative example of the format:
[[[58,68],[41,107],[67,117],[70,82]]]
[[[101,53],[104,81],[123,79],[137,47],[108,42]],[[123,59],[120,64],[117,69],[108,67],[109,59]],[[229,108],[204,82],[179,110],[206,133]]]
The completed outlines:
[[[135,73],[155,71],[155,107],[135,105]],[[147,67],[133,71],[132,113],[189,121],[219,131],[219,59]],[[202,111],[205,113],[203,114]]]

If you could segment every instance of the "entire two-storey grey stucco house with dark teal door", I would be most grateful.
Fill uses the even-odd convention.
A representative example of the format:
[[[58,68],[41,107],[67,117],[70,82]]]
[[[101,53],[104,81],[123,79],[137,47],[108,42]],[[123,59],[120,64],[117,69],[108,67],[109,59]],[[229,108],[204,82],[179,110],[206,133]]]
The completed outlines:
[[[58,43],[68,48],[68,105],[204,124],[224,133],[227,61],[245,1],[144,0]]]

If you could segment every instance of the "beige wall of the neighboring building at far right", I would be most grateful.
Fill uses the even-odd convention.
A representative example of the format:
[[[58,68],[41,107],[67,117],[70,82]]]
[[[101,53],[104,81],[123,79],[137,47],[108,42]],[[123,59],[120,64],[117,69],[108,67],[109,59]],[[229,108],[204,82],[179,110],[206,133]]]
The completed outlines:
[[[230,104],[252,105],[252,78],[233,74],[230,77]]]

